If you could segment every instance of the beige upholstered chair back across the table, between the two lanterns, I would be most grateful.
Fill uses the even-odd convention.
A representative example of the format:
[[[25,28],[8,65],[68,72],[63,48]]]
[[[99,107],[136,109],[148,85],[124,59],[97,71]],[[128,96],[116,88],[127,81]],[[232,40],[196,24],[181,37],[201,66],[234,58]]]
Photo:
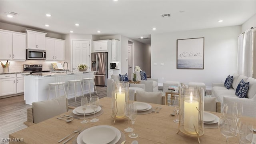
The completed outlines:
[[[134,95],[134,100],[165,105],[166,98],[162,96],[162,92],[144,92],[138,90],[136,95]]]

